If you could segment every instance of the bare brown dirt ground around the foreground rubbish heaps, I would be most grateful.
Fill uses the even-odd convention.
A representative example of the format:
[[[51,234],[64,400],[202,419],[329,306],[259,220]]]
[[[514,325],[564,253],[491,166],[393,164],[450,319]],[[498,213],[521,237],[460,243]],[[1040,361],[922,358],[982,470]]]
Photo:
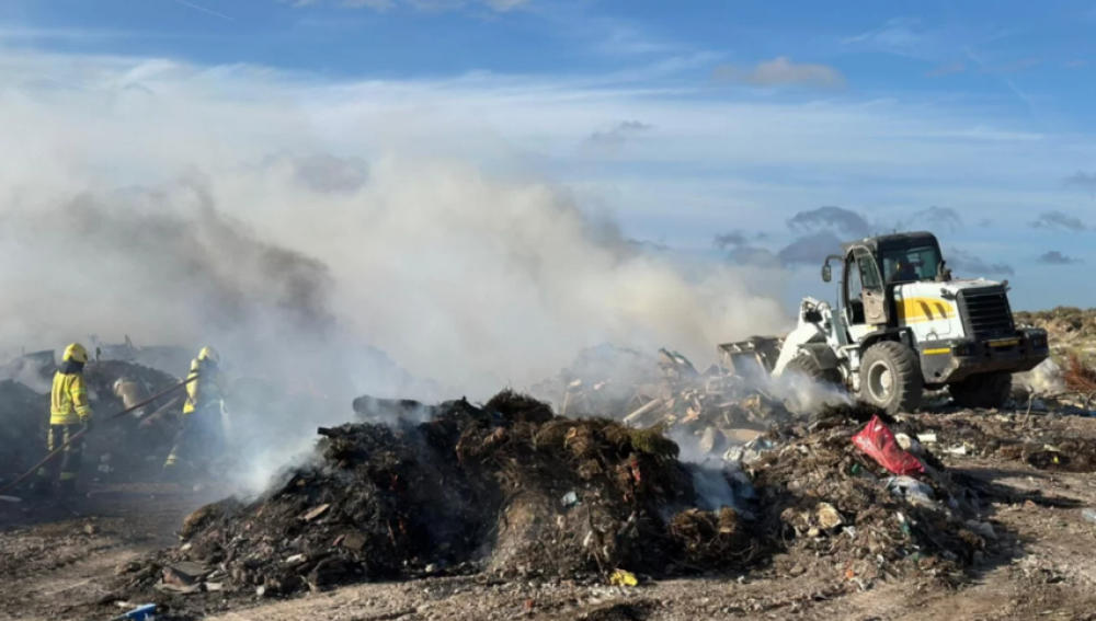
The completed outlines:
[[[984,427],[1016,434],[993,413],[924,414],[939,427]],[[1096,418],[1027,421],[1060,435],[1096,440]],[[824,557],[777,556],[767,568],[608,587],[568,582],[504,582],[487,576],[374,583],[301,597],[224,601],[205,616],[173,611],[170,619],[282,621],[330,619],[460,620],[586,619],[1096,619],[1096,480],[1084,472],[1050,472],[994,453],[966,457],[928,446],[952,472],[992,484],[998,498],[984,516],[1000,538],[1000,553],[981,560],[969,585],[924,582],[865,584]],[[1007,455],[1007,453],[1005,453]],[[987,487],[989,488],[989,487]],[[167,485],[93,486],[71,499],[0,502],[0,619],[111,619],[124,612],[112,599],[118,567],[138,555],[178,544],[174,531],[194,508],[222,490],[194,492]],[[1038,502],[1026,502],[1041,494]],[[1061,502],[1059,502],[1061,501]],[[1060,506],[1054,506],[1060,505]],[[207,594],[209,597],[214,594]],[[140,605],[145,601],[128,603]]]

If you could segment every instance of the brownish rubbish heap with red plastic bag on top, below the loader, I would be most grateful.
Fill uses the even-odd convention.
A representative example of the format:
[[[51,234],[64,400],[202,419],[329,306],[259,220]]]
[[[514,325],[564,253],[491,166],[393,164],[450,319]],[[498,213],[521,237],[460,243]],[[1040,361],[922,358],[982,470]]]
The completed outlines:
[[[794,574],[812,565],[860,586],[911,574],[950,583],[996,540],[974,495],[883,418],[866,405],[823,406],[809,427],[770,434],[779,448],[747,464],[762,532],[789,542]]]

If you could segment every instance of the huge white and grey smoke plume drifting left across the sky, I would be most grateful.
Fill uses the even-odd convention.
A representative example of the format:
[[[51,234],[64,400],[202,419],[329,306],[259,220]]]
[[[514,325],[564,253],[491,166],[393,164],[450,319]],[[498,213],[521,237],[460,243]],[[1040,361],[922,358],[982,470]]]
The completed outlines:
[[[425,154],[424,128],[453,118],[436,101],[240,68],[65,67],[0,61],[0,349],[212,344],[238,372],[317,382],[328,405],[283,434],[299,442],[362,393],[483,399],[603,342],[705,361],[785,326],[778,273],[761,291],[735,267],[676,263],[566,185],[487,172],[476,162],[505,153],[490,129],[447,135],[491,143],[478,160]]]

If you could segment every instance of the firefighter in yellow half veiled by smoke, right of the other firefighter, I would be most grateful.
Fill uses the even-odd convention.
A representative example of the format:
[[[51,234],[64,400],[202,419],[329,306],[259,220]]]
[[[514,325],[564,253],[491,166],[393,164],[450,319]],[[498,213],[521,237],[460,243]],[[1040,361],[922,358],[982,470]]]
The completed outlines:
[[[227,384],[220,370],[220,355],[213,347],[204,347],[191,363],[186,379],[198,379],[186,384],[186,402],[183,404],[183,424],[175,436],[175,445],[163,464],[164,475],[178,478],[180,465],[198,453],[217,455],[224,437],[219,432],[221,406]]]

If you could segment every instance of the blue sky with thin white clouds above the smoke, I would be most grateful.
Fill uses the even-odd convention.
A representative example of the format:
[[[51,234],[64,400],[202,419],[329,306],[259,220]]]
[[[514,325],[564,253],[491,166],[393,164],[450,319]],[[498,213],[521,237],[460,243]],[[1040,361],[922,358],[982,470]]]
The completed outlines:
[[[1096,306],[1094,34],[1093,1],[2,0],[0,85],[293,107],[307,136],[237,124],[236,154],[549,179],[663,252],[783,263],[789,299],[825,292],[811,244],[933,228],[1016,306]]]

